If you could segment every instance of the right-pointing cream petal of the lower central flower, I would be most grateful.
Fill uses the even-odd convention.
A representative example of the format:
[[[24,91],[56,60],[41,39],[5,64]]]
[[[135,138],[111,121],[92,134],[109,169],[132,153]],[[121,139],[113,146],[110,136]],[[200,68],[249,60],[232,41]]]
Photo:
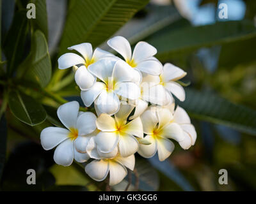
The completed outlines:
[[[122,128],[122,132],[143,138],[143,125],[140,117],[137,117],[126,124],[124,128]]]

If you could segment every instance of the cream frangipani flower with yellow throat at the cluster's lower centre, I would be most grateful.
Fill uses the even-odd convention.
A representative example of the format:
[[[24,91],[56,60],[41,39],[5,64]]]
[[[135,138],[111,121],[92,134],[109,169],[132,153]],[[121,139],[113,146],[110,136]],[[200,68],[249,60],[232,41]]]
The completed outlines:
[[[127,117],[134,107],[121,105],[115,119],[102,113],[96,120],[100,133],[95,137],[99,152],[112,152],[116,146],[122,157],[130,156],[137,152],[139,144],[136,137],[143,138],[143,126],[140,117],[127,122]]]

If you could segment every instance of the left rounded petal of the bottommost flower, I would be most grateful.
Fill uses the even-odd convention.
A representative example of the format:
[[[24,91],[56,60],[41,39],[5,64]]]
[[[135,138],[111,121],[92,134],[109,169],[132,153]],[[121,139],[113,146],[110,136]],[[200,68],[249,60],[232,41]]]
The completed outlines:
[[[94,160],[84,168],[85,172],[94,180],[106,179],[109,171],[109,163],[104,160]]]

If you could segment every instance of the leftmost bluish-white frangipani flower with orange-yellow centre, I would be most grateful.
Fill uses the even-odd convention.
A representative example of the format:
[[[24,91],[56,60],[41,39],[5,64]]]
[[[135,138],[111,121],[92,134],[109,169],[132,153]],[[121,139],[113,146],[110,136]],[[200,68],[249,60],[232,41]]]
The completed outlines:
[[[91,112],[79,114],[79,103],[72,101],[61,105],[57,115],[67,128],[48,127],[42,130],[40,139],[42,147],[54,151],[54,161],[63,166],[72,164],[73,159],[85,162],[90,157],[86,153],[77,152],[74,142],[81,135],[88,135],[96,129],[96,116]]]

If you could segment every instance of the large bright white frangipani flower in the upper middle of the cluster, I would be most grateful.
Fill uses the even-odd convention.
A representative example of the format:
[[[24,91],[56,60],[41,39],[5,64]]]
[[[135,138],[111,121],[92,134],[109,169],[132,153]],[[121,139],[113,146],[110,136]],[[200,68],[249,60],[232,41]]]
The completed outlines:
[[[90,106],[95,101],[99,112],[113,115],[120,108],[118,96],[132,100],[139,98],[140,87],[133,80],[134,75],[139,75],[138,71],[124,61],[102,59],[90,66],[89,70],[102,82],[95,82],[88,91],[81,91],[84,105]]]

